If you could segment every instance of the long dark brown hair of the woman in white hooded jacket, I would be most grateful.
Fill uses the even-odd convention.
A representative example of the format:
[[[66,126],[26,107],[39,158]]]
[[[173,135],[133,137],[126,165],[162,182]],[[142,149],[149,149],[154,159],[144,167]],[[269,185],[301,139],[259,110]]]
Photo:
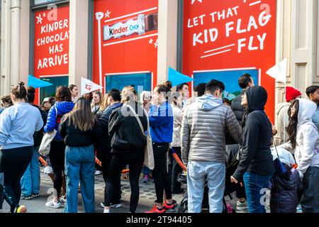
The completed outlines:
[[[295,107],[295,114],[291,117],[291,108]],[[298,113],[299,113],[299,100],[296,99],[291,104],[288,114],[289,114],[289,125],[287,128],[287,133],[289,135],[289,141],[293,149],[296,148],[296,138],[297,138],[297,126],[298,126]]]

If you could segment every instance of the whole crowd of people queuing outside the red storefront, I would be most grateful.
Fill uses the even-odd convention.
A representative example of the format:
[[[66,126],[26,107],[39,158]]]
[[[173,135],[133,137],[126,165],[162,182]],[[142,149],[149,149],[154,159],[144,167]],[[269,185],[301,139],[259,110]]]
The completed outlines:
[[[39,158],[55,189],[45,206],[65,207],[65,213],[77,213],[79,189],[86,213],[95,211],[96,172],[105,181],[104,213],[121,208],[121,174],[127,167],[130,213],[138,208],[140,179],[155,183],[157,199],[147,213],[176,211],[172,195],[184,192],[177,180],[183,168],[189,213],[202,211],[206,187],[209,211],[223,212],[229,185],[239,211],[266,212],[263,190],[270,189],[274,213],[296,213],[299,204],[305,213],[319,212],[319,87],[307,89],[309,99],[287,87],[275,127],[264,111],[267,90],[255,86],[250,74],[238,84],[242,92],[233,101],[223,99],[225,84],[216,79],[198,84],[193,96],[188,84],[173,91],[171,82],[140,97],[134,86],[82,97],[76,85],[61,86],[36,106],[35,89],[21,82],[1,98],[0,173],[11,213],[26,212],[21,199],[40,196]],[[43,136],[51,132],[50,153],[41,157]],[[153,168],[145,164],[148,134]],[[229,148],[236,163],[230,175]]]

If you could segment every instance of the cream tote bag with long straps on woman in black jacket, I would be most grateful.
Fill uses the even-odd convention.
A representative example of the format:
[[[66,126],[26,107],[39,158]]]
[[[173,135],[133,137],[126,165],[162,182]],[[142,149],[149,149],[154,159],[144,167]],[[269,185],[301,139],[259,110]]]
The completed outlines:
[[[130,108],[130,110],[133,112],[136,120],[138,121],[138,124],[140,125],[140,130],[142,131],[142,134],[145,135],[144,128],[142,126],[142,122],[140,121],[140,118],[138,117],[138,114],[135,113],[135,110],[129,106],[125,105]],[[153,145],[152,145],[152,138],[150,137],[150,120],[148,118],[148,114],[143,109],[146,117],[147,117],[147,134],[145,135],[146,137],[146,146],[144,148],[144,165],[147,166],[150,170],[154,170],[155,168],[155,163],[154,163],[154,153],[153,153]]]

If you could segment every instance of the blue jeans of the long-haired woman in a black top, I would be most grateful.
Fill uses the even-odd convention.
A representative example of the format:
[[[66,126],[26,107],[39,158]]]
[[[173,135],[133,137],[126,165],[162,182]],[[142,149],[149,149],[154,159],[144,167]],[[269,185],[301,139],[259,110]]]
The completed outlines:
[[[77,189],[81,182],[81,193],[86,213],[94,213],[94,146],[65,148],[65,175],[67,177],[67,204],[65,213],[77,213]]]

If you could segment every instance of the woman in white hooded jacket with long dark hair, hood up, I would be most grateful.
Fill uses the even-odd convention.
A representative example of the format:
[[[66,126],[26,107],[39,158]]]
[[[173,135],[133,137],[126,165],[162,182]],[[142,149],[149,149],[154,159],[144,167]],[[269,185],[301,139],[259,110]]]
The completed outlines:
[[[289,143],[279,146],[294,151],[298,172],[303,180],[303,213],[319,213],[319,134],[311,120],[317,105],[297,99],[289,110]]]

